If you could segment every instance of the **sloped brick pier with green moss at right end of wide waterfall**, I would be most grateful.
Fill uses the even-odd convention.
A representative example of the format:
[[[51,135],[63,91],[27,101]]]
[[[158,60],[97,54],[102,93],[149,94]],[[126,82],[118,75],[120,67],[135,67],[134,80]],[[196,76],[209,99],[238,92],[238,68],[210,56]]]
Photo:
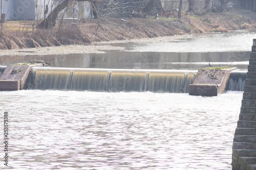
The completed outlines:
[[[189,95],[217,96],[226,90],[233,68],[202,68],[198,70],[193,84],[189,85]]]

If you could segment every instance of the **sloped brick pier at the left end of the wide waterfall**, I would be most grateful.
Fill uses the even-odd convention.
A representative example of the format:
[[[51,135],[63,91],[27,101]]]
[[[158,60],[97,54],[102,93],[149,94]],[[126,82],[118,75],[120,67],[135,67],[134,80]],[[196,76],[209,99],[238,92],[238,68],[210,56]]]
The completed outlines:
[[[34,66],[42,66],[42,64],[8,65],[0,77],[0,90],[27,89],[29,72]]]

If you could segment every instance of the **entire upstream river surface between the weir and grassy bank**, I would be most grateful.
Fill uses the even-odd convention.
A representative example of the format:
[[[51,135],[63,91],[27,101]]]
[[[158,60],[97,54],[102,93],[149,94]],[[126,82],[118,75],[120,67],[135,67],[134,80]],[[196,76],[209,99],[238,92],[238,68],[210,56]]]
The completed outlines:
[[[53,67],[134,68],[134,69],[199,69],[229,65],[247,69],[255,33],[222,33],[185,35],[116,43],[124,51],[104,54],[73,54],[46,56],[0,56],[7,65],[20,61],[45,61]]]

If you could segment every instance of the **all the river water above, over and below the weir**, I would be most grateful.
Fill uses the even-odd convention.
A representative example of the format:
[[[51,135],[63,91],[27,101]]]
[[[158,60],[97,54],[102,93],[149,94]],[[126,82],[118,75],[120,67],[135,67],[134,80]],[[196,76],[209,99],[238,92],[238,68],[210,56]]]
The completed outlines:
[[[189,72],[208,62],[246,69],[255,37],[249,32],[186,35],[115,43],[126,50],[105,54],[0,56],[3,65],[44,60],[70,67],[34,68],[31,90],[0,91],[0,110],[9,113],[10,156],[9,166],[0,167],[231,169],[242,92],[203,97],[166,87],[172,81],[186,84]],[[166,76],[168,71],[172,74]],[[245,73],[232,72],[230,88],[242,90]]]

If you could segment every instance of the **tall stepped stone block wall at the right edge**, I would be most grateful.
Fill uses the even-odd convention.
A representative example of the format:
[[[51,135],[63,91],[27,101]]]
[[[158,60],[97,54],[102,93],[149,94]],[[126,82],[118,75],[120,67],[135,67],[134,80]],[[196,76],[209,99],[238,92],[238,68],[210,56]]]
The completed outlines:
[[[256,39],[253,39],[232,152],[233,170],[256,169]]]

